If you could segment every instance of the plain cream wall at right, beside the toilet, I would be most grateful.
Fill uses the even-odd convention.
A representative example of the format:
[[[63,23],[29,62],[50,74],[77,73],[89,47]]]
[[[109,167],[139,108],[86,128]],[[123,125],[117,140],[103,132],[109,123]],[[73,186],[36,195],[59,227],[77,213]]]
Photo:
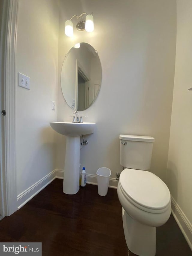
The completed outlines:
[[[176,66],[171,116],[167,184],[173,212],[192,249],[192,1],[177,1]],[[184,222],[183,222],[184,221]]]

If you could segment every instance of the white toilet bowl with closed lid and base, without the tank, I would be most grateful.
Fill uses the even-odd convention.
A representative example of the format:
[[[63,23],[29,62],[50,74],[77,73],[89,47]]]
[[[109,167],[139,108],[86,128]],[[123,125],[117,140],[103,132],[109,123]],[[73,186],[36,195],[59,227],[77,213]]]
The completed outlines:
[[[154,256],[155,228],[171,214],[169,189],[153,173],[126,168],[120,175],[117,193],[129,250],[140,256]]]

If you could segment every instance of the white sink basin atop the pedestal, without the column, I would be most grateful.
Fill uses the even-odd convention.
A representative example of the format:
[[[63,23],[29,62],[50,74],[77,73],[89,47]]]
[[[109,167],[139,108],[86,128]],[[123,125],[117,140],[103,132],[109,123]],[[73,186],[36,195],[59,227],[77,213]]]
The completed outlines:
[[[95,131],[96,123],[50,122],[51,128],[65,136],[81,136]]]

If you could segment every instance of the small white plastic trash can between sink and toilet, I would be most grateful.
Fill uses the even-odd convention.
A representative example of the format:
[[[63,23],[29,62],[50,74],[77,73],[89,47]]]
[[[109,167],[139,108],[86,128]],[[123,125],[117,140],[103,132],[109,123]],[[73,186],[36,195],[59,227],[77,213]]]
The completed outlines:
[[[106,196],[108,191],[111,170],[107,167],[101,167],[97,170],[98,194]]]

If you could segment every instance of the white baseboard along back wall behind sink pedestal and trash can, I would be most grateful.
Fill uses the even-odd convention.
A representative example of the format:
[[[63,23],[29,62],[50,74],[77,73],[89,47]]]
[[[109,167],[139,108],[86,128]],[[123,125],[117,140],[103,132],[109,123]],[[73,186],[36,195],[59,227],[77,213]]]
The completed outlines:
[[[56,178],[63,179],[64,170],[56,169]],[[87,173],[87,183],[97,185],[97,175]],[[117,188],[118,181],[115,178],[110,178],[109,188]]]

